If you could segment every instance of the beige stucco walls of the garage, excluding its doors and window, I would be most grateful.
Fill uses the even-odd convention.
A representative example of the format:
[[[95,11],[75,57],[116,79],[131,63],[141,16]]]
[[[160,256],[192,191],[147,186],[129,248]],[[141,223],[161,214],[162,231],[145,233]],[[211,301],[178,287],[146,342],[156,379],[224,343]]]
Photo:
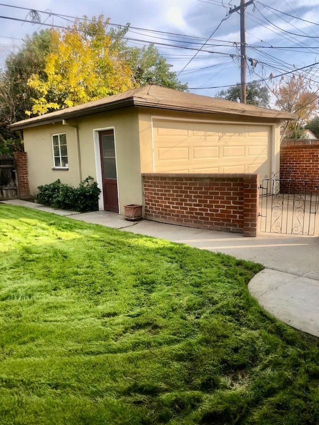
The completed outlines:
[[[72,120],[27,128],[23,131],[25,151],[28,154],[28,173],[31,195],[37,186],[51,183],[57,178],[63,183],[77,186],[88,175],[98,181],[101,187],[101,164],[97,152],[98,132],[114,129],[120,214],[124,205],[142,204],[142,173],[154,172],[153,117],[169,120],[193,120],[196,122],[224,122],[258,124],[270,126],[271,140],[269,155],[271,170],[279,170],[279,120],[269,122],[259,117],[233,117],[201,113],[186,113],[152,108],[126,107],[107,112],[95,113]],[[75,127],[77,126],[78,130]],[[68,169],[52,169],[53,155],[51,136],[66,133]],[[77,137],[78,134],[78,137]],[[80,155],[79,155],[80,153]],[[100,203],[100,209],[101,207]]]

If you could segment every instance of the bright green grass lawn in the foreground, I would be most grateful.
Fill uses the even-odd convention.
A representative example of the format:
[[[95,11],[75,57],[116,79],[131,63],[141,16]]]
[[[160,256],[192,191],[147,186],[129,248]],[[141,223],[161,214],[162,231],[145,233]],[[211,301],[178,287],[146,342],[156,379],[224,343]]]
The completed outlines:
[[[318,339],[261,268],[0,204],[0,424],[318,424]]]

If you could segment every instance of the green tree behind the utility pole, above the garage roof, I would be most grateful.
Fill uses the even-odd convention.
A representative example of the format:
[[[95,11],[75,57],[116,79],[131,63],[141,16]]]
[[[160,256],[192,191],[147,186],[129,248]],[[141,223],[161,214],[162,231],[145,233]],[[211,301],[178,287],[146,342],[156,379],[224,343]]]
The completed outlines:
[[[241,102],[241,87],[238,83],[236,86],[228,87],[227,90],[221,90],[217,93],[218,99],[231,100],[233,102]],[[249,105],[261,106],[269,108],[270,95],[266,86],[260,83],[253,82],[247,84],[246,87],[246,102]]]

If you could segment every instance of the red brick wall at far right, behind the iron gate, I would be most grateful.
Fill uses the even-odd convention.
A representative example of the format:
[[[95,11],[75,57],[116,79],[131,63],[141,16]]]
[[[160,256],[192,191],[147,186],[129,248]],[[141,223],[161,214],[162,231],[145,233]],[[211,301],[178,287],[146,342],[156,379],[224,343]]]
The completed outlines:
[[[319,144],[280,146],[281,178],[318,180]]]

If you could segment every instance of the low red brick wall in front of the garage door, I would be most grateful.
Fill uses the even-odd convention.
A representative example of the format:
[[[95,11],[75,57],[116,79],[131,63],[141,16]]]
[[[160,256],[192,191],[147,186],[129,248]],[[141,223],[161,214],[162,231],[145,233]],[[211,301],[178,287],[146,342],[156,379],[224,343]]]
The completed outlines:
[[[257,235],[258,174],[142,174],[145,217]]]

